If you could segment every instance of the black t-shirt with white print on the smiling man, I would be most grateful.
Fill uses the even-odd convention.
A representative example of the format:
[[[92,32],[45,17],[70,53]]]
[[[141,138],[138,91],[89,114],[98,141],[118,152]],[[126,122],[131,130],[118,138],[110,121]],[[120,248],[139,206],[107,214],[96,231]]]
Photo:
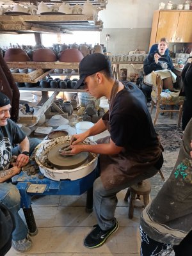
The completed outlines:
[[[18,144],[26,138],[26,134],[12,120],[0,127],[0,170],[9,168],[12,157],[12,145]]]

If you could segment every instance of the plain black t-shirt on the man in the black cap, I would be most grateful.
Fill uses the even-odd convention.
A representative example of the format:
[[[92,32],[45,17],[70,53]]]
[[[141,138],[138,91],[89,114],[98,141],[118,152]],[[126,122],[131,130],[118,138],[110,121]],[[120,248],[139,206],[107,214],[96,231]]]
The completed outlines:
[[[157,145],[157,134],[145,102],[145,96],[133,83],[116,94],[109,117],[111,140],[127,150]]]

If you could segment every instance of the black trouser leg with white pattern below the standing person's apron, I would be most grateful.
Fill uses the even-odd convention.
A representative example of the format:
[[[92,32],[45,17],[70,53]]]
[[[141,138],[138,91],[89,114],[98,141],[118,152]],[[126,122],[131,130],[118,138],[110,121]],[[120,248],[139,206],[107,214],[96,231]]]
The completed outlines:
[[[152,256],[152,255],[164,255],[168,256],[172,253],[172,246],[170,244],[163,244],[155,241],[145,234],[143,229],[140,227],[141,235],[141,256]]]

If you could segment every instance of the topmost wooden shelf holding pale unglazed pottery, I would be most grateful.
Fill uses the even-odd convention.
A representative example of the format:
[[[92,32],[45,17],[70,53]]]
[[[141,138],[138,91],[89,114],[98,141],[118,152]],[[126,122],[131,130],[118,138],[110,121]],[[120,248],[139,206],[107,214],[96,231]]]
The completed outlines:
[[[38,6],[29,3],[10,4],[0,7],[0,30],[41,33],[66,33],[66,30],[102,30],[102,20],[98,13],[106,8],[106,1],[92,4],[89,0],[83,5],[68,3],[45,4]]]

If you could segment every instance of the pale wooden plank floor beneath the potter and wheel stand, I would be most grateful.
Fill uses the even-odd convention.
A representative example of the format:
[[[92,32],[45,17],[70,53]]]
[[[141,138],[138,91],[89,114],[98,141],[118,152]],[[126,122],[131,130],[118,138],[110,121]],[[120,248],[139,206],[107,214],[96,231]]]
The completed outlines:
[[[106,101],[103,102],[106,104]],[[153,115],[154,116],[154,113]],[[160,116],[157,124],[176,124],[177,116],[173,119]],[[98,136],[97,136],[98,137]],[[178,150],[179,151],[179,150]],[[168,173],[177,158],[178,152],[164,154]],[[158,174],[157,174],[158,175]],[[161,178],[159,177],[159,180]],[[163,182],[162,182],[163,184]],[[156,186],[154,186],[156,189]],[[127,218],[128,207],[124,202],[124,191],[118,193],[118,205],[115,216],[120,223],[119,230],[109,237],[106,244],[97,249],[83,246],[83,239],[96,223],[93,213],[85,211],[86,195],[81,196],[42,196],[33,200],[38,234],[31,237],[33,248],[23,255],[30,256],[139,256],[140,234],[139,222],[141,209],[134,209],[134,218]],[[22,210],[20,210],[22,214]],[[22,215],[23,216],[23,215]],[[19,255],[13,248],[7,256]]]

